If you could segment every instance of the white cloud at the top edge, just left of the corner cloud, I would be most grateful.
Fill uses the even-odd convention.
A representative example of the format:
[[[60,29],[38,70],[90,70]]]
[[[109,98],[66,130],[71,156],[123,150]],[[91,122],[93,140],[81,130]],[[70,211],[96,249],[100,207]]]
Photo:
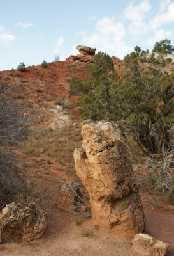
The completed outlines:
[[[145,13],[149,12],[150,8],[149,0],[143,0],[136,6],[133,6],[133,4],[127,6],[126,10],[124,10],[124,17],[131,20],[129,25],[130,33],[137,34],[147,32],[148,26],[143,22],[143,18]]]

